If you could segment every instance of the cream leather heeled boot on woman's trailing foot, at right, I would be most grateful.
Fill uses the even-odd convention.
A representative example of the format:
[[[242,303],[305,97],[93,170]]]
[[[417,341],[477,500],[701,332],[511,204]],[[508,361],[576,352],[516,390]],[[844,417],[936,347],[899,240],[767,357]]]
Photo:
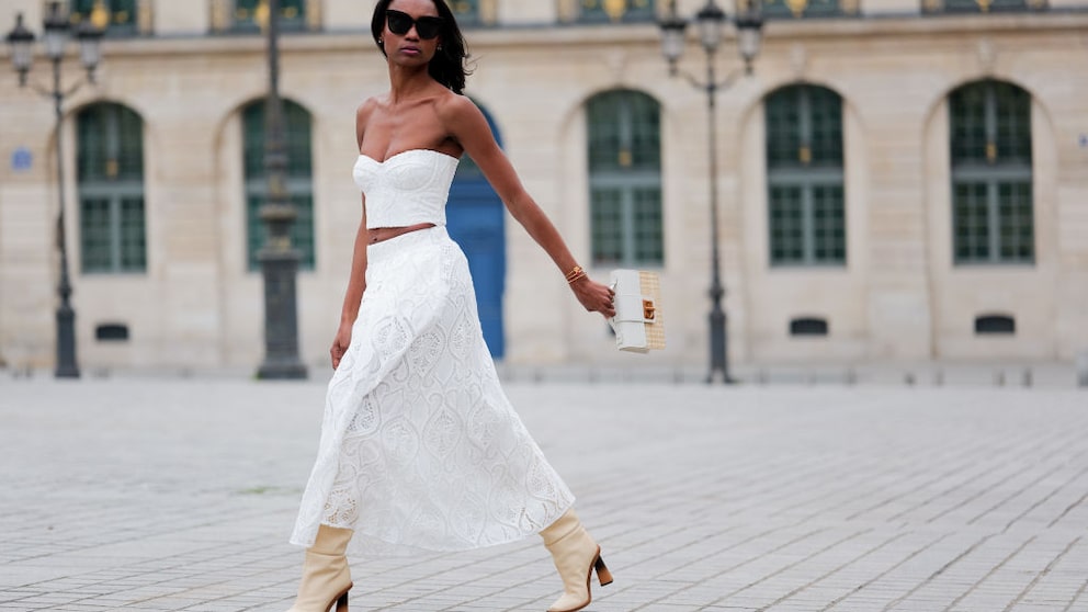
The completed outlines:
[[[581,525],[574,508],[542,531],[541,537],[552,553],[559,578],[563,578],[563,596],[547,612],[575,612],[589,605],[592,601],[589,580],[594,569],[602,587],[612,583],[612,574],[601,559],[601,547]]]

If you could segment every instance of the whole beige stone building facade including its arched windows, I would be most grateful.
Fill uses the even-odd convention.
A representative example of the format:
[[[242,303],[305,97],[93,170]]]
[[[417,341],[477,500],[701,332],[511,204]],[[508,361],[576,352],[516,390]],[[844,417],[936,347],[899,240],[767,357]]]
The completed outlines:
[[[97,1],[70,2],[73,19]],[[59,134],[80,365],[256,369],[260,3],[98,3],[111,22],[103,61]],[[387,72],[372,0],[283,4],[299,339],[304,361],[326,369],[360,213],[354,111]],[[712,177],[733,362],[1088,350],[1088,1],[768,2],[753,72],[717,95],[716,168],[706,94],[670,78],[660,54],[665,2],[452,4],[474,60],[466,93],[576,257],[600,279],[657,270],[665,291],[668,349],[617,353],[465,162],[451,224],[468,225],[471,257],[489,245],[475,273],[488,341],[509,363],[705,363]],[[703,2],[678,4],[693,15]],[[2,8],[41,30],[38,0]],[[701,76],[689,35],[680,66]],[[719,75],[740,66],[733,35]],[[82,71],[69,55],[70,83]],[[30,81],[48,71],[39,56]],[[0,359],[48,366],[57,134],[50,105],[7,68],[0,117]],[[498,229],[475,242],[485,217]]]

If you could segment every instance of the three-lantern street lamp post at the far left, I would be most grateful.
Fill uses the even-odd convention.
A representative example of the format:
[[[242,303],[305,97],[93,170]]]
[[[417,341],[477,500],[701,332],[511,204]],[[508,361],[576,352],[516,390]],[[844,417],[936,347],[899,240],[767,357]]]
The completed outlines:
[[[93,14],[75,32],[80,43],[80,57],[87,70],[87,80],[94,82],[94,69],[101,58],[101,38],[105,15]],[[71,279],[68,274],[68,240],[65,233],[65,172],[64,151],[61,149],[60,127],[64,121],[64,101],[76,92],[82,83],[65,90],[60,83],[60,66],[64,63],[65,46],[71,37],[71,26],[60,10],[60,2],[49,3],[49,13],[43,24],[45,54],[53,63],[53,88],[35,87],[43,95],[53,100],[56,118],[55,135],[57,162],[57,193],[59,194],[59,212],[57,213],[57,248],[60,250],[60,280],[57,293],[60,304],[57,306],[57,358],[55,375],[58,378],[78,378],[79,365],[76,363],[76,311],[71,307]],[[26,86],[26,75],[34,59],[34,34],[23,25],[23,15],[15,18],[15,27],[8,33],[8,44],[11,45],[11,60],[19,71],[19,86]]]

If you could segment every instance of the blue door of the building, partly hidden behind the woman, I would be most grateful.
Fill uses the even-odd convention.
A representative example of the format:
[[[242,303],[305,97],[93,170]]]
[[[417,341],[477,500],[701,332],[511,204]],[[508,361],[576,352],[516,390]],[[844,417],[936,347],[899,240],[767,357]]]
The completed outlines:
[[[484,115],[498,138],[491,116],[487,111]],[[484,340],[491,358],[501,359],[505,352],[502,294],[507,279],[506,208],[468,156],[461,159],[445,212],[450,237],[461,245],[468,258]]]

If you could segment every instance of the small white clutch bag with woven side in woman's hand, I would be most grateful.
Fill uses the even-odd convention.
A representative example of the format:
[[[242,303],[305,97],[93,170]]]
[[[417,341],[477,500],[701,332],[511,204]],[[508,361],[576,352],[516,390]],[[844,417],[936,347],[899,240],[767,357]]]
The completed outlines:
[[[654,272],[614,270],[610,284],[615,292],[615,316],[609,324],[621,351],[646,353],[665,348],[661,317],[661,281]]]

